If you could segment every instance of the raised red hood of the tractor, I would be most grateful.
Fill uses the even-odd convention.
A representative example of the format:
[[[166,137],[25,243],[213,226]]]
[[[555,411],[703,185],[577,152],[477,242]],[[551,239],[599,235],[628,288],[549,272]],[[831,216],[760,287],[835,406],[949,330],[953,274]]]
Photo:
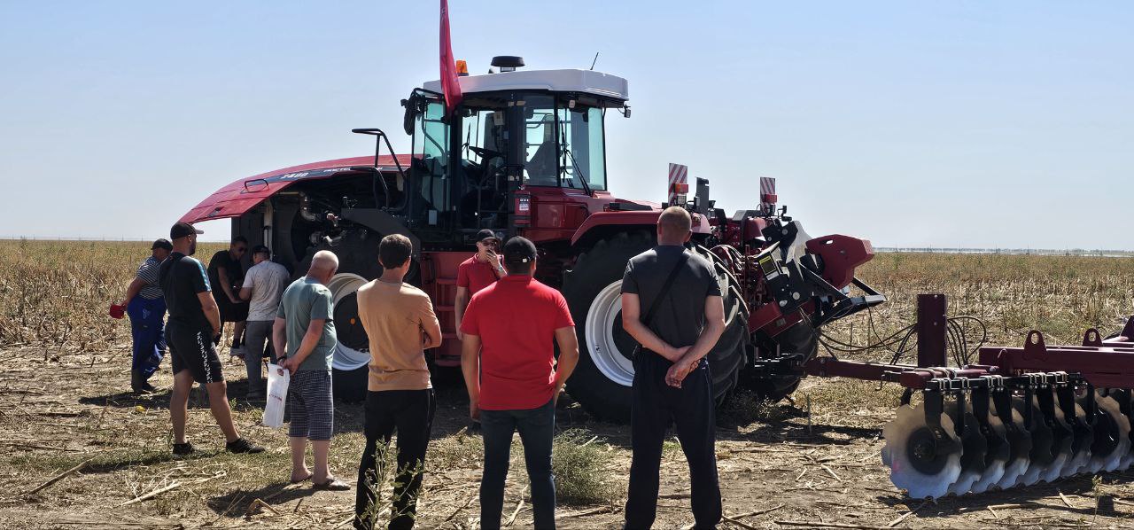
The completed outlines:
[[[409,168],[409,155],[399,154],[398,162],[404,169]],[[213,219],[227,219],[239,217],[244,212],[252,210],[264,199],[276,192],[291,185],[291,183],[307,179],[330,178],[340,171],[352,167],[374,166],[374,157],[341,158],[338,160],[325,160],[322,162],[304,163],[289,168],[277,169],[274,171],[262,173],[252,177],[237,179],[200,204],[193,207],[188,213],[181,216],[183,222],[201,222]],[[384,154],[378,159],[379,171],[397,171],[393,157]]]

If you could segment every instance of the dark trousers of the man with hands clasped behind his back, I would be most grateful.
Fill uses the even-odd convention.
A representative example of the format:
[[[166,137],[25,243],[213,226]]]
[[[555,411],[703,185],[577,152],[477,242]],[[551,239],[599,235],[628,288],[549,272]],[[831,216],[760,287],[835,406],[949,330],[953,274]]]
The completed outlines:
[[[672,422],[689,463],[693,518],[697,529],[720,522],[720,487],[717,482],[716,404],[709,363],[701,360],[685,377],[682,388],[666,385],[672,363],[652,352],[634,356],[631,405],[631,486],[626,499],[626,528],[649,529],[658,511],[658,472],[666,430]]]

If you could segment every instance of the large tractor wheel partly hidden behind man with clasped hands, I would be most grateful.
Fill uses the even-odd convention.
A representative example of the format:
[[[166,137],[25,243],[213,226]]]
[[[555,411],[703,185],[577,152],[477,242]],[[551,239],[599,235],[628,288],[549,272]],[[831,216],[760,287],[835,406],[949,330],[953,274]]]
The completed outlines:
[[[626,262],[653,245],[653,235],[645,230],[618,234],[579,255],[564,278],[562,293],[579,344],[579,363],[567,381],[567,392],[589,413],[606,421],[629,421],[636,343],[621,327],[619,293]],[[696,252],[713,261],[704,249]],[[736,386],[744,364],[747,313],[731,278],[722,268],[717,271],[725,293],[726,331],[708,359],[713,397],[720,404]]]

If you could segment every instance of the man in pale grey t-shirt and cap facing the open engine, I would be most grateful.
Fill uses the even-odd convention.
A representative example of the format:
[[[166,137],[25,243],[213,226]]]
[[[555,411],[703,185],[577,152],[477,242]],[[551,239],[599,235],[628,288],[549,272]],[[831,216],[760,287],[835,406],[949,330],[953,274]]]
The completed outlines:
[[[252,262],[240,286],[240,300],[248,302],[248,321],[244,328],[244,365],[248,370],[248,399],[263,399],[265,389],[261,380],[261,364],[264,359],[264,343],[272,335],[276,309],[287,288],[290,275],[287,269],[272,261],[272,251],[264,245],[252,247]],[[269,356],[276,361],[276,353],[269,348]]]

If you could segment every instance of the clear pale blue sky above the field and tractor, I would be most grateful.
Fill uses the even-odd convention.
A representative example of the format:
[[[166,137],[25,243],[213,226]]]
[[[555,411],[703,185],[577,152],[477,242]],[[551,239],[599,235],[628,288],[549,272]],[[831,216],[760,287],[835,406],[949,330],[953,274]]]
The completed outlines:
[[[451,0],[452,48],[631,82],[612,191],[759,176],[812,235],[1134,249],[1134,3]],[[0,235],[156,237],[240,177],[365,154],[438,76],[421,1],[0,3]],[[609,115],[608,115],[609,116]],[[396,148],[408,140],[397,137]],[[227,221],[206,225],[223,236]]]

